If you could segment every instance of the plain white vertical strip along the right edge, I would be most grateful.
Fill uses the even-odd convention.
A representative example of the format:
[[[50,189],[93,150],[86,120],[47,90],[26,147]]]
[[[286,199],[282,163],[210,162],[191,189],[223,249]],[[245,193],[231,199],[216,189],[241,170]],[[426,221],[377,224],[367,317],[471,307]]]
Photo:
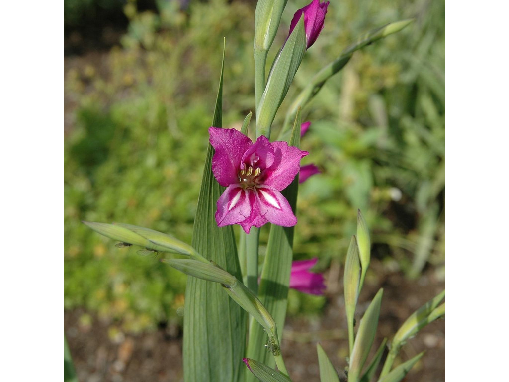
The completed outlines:
[[[497,380],[505,373],[508,8],[495,1],[446,3],[449,380]]]

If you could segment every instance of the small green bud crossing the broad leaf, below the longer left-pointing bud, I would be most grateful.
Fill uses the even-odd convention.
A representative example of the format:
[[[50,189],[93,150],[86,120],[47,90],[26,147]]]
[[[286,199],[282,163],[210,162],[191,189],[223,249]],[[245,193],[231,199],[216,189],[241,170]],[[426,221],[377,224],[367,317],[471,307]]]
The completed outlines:
[[[211,263],[207,264],[193,259],[161,259],[161,261],[184,272],[186,275],[220,283],[224,286],[231,286],[237,282],[234,276]]]

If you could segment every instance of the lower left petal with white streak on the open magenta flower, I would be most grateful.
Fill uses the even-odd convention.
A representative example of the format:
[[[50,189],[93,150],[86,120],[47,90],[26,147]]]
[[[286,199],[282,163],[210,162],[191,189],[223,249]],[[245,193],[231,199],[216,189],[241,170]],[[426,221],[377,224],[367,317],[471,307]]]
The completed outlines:
[[[251,205],[255,202],[254,199],[250,201],[248,191],[239,184],[228,186],[217,201],[217,226],[224,227],[245,221],[251,215]]]

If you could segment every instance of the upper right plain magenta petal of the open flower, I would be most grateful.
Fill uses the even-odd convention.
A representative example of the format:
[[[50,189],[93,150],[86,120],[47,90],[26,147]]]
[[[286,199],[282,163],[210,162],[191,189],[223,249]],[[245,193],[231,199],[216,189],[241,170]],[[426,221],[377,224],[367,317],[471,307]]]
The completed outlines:
[[[300,170],[300,159],[309,154],[294,146],[288,146],[286,142],[273,142],[275,160],[273,165],[266,170],[264,184],[281,191],[285,189]]]

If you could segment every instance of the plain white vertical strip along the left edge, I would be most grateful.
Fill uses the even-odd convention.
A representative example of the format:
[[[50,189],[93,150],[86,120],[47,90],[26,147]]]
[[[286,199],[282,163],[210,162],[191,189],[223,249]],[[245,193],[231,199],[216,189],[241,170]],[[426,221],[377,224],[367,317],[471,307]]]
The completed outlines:
[[[8,352],[0,376],[56,380],[64,322],[63,2],[5,2],[2,15],[0,325]]]

